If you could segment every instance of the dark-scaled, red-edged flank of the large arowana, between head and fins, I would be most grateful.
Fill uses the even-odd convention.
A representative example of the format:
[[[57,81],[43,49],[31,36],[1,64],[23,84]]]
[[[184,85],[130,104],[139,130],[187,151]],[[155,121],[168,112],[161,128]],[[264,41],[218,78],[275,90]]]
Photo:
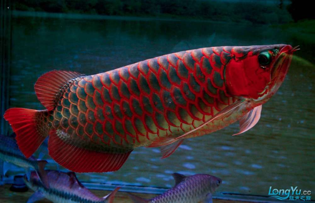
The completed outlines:
[[[182,51],[73,79],[48,123],[103,146],[180,136],[235,101],[224,81],[231,49]]]

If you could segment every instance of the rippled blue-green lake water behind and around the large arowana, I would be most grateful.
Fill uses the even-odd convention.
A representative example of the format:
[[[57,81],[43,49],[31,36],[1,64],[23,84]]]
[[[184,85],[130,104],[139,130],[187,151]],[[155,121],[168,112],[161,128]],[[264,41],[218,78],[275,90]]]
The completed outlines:
[[[294,42],[288,33],[268,26],[128,18],[15,16],[12,29],[10,106],[33,109],[43,109],[33,85],[53,69],[89,75],[187,49]],[[314,191],[313,70],[293,61],[282,87],[263,105],[259,123],[242,135],[231,136],[238,131],[238,124],[233,124],[185,140],[166,159],[160,159],[158,148],[136,148],[119,171],[78,174],[78,178],[171,187],[173,172],[209,173],[223,179],[218,191],[267,195],[270,186]]]

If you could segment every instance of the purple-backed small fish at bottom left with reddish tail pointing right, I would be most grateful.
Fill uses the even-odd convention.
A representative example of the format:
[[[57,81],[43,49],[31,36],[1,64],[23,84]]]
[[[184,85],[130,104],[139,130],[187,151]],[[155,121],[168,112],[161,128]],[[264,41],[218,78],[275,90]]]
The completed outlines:
[[[90,203],[112,203],[114,196],[119,190],[115,188],[110,194],[103,198],[95,196],[89,189],[85,188],[77,179],[74,172],[61,172],[54,170],[46,170],[49,187],[44,187],[39,180],[37,173],[31,172],[31,179],[28,181],[24,176],[24,182],[33,191],[34,194],[28,199],[27,203],[36,202],[44,198],[52,202],[90,202]]]

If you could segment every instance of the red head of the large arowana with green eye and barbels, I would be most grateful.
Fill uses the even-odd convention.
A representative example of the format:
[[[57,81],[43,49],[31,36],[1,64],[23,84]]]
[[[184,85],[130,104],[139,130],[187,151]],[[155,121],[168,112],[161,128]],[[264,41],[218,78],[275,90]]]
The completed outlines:
[[[265,103],[284,81],[296,50],[286,44],[233,47],[225,67],[227,93]]]

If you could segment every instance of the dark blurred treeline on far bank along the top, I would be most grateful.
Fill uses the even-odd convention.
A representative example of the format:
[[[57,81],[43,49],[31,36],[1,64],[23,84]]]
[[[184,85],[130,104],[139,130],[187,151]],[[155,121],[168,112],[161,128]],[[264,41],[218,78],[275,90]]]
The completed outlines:
[[[300,2],[300,1],[299,1]],[[306,4],[307,1],[305,1]],[[287,9],[288,8],[288,9]],[[297,0],[17,0],[13,9],[58,13],[190,18],[257,24],[281,24],[311,17]],[[291,14],[291,15],[290,15]]]

